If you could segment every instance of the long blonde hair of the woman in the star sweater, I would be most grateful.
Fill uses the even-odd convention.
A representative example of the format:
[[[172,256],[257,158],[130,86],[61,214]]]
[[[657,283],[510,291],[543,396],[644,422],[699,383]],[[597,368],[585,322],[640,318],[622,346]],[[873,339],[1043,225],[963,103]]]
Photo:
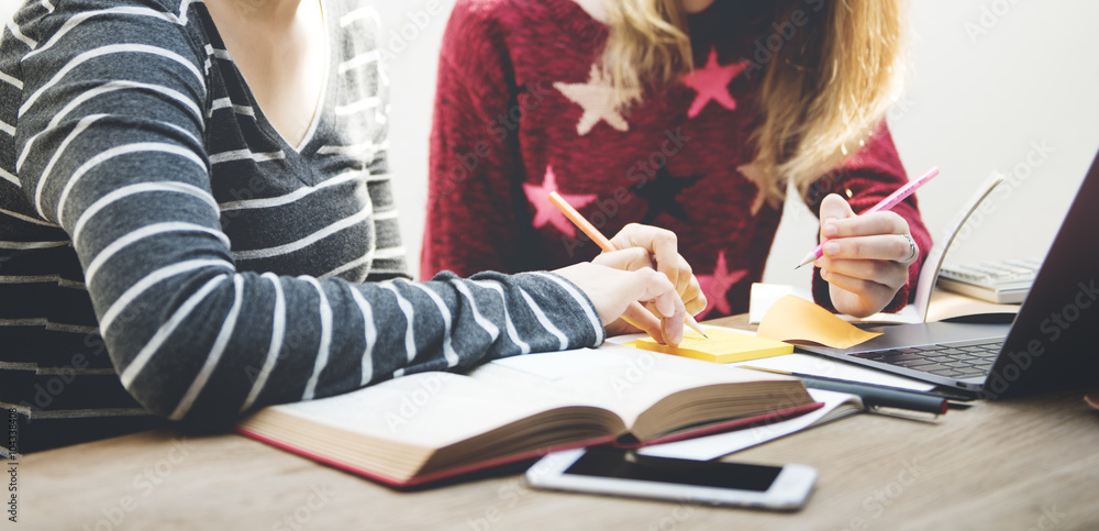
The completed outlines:
[[[791,24],[792,35],[782,35],[782,46],[758,65],[754,164],[773,206],[785,199],[788,180],[804,197],[885,118],[901,84],[901,1],[820,0],[820,11],[809,0],[776,1],[774,22],[803,24]],[[636,102],[641,90],[674,86],[693,68],[682,0],[608,0],[607,8],[610,34],[600,65],[620,107]]]

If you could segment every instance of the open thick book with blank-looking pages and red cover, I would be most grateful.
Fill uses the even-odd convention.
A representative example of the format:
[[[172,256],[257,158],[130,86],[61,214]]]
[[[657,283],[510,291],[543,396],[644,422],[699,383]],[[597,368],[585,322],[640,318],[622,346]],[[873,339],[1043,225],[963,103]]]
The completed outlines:
[[[532,354],[467,375],[421,373],[273,406],[237,431],[395,485],[550,451],[642,446],[821,406],[796,378],[617,345]]]

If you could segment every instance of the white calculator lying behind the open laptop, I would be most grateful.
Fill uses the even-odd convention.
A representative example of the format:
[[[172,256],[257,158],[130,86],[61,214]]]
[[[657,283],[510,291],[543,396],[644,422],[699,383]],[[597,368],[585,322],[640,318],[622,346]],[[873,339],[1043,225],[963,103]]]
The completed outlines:
[[[944,264],[937,286],[989,302],[1022,303],[1037,276],[1042,261],[1002,259],[979,264]]]

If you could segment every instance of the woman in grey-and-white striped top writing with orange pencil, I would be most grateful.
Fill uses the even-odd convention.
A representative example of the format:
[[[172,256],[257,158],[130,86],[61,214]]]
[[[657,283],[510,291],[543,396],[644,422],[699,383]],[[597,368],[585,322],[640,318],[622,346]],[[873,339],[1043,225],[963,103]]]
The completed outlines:
[[[704,299],[666,231],[554,273],[407,279],[377,34],[353,0],[27,1],[0,42],[0,363],[22,381],[0,400],[224,420],[598,345],[633,301],[678,342]],[[137,403],[76,391],[95,377]]]

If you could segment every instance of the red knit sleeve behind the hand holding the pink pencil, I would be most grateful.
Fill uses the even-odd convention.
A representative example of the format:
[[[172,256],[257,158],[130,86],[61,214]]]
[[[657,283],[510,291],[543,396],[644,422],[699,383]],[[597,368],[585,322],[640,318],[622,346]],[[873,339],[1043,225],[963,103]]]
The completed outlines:
[[[819,213],[821,202],[829,193],[836,193],[851,204],[855,212],[863,212],[908,182],[904,166],[901,165],[892,135],[885,120],[866,141],[866,145],[833,173],[814,182],[806,197],[806,204]],[[909,196],[891,209],[908,222],[912,240],[920,247],[920,257],[908,268],[908,283],[897,290],[897,295],[882,311],[896,312],[904,308],[914,296],[914,287],[920,279],[920,268],[931,251],[931,234],[920,219],[915,195]],[[821,278],[819,267],[813,268],[813,298],[817,303],[836,311],[829,295],[829,285]]]

